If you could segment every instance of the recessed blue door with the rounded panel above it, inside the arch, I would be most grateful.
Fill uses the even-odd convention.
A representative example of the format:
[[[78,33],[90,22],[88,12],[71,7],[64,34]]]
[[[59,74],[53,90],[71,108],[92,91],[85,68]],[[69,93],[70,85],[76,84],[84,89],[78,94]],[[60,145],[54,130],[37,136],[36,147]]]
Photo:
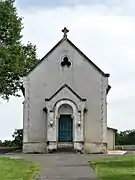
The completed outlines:
[[[73,142],[73,109],[68,104],[63,104],[58,109],[58,142]]]

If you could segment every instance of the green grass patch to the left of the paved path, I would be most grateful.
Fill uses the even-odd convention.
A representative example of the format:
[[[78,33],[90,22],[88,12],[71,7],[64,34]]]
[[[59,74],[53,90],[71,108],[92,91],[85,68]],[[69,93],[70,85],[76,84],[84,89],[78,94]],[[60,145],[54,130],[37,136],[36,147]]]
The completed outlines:
[[[0,158],[0,180],[32,180],[38,169],[23,159]]]

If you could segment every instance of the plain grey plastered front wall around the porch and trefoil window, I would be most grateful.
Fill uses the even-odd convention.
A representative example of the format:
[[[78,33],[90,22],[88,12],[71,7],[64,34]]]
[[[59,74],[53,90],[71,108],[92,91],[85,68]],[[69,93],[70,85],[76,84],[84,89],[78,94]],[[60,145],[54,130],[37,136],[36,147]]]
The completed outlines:
[[[72,65],[70,68],[63,69],[60,66],[60,61],[65,55],[70,58]],[[30,104],[29,142],[43,142],[46,140],[47,120],[45,112],[43,112],[45,98],[51,97],[65,83],[73,88],[81,97],[87,99],[86,106],[88,111],[84,119],[85,142],[89,144],[106,141],[105,127],[107,119],[105,94],[107,79],[102,77],[66,41],[58,46],[53,53],[36,67],[28,75],[28,78],[30,82],[28,95]],[[28,91],[28,88],[26,91]],[[103,129],[105,132],[104,135]]]

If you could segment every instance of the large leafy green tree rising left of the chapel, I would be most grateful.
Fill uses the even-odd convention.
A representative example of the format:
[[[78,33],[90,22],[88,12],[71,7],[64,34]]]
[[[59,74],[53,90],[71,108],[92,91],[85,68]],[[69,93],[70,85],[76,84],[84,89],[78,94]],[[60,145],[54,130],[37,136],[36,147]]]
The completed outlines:
[[[22,18],[14,0],[0,0],[0,96],[19,96],[22,77],[37,63],[36,46],[21,43]]]

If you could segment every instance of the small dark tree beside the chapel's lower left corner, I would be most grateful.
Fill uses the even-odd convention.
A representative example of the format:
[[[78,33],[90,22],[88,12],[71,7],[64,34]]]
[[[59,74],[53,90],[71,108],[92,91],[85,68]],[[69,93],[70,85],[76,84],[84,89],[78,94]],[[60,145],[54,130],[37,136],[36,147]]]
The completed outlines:
[[[23,145],[23,129],[16,129],[13,133],[14,140],[12,141],[13,146],[22,149]]]

